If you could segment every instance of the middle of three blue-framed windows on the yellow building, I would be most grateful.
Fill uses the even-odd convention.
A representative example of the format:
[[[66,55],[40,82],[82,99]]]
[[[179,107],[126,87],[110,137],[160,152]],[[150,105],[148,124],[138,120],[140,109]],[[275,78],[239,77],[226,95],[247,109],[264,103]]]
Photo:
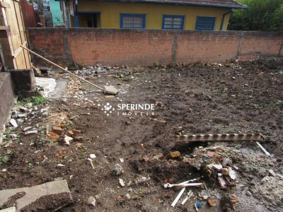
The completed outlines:
[[[163,29],[183,30],[185,16],[163,15]]]

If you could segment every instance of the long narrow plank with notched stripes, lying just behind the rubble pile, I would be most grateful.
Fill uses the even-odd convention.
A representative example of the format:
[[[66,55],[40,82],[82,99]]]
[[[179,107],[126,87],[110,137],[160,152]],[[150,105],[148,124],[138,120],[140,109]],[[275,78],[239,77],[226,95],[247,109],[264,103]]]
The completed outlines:
[[[177,142],[197,141],[264,141],[262,134],[207,134],[177,136]]]

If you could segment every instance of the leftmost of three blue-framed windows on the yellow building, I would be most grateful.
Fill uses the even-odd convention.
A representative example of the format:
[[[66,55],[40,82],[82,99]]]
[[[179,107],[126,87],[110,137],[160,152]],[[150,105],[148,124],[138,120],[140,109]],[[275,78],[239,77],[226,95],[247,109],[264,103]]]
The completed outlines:
[[[120,18],[120,28],[146,28],[146,14],[122,13]]]

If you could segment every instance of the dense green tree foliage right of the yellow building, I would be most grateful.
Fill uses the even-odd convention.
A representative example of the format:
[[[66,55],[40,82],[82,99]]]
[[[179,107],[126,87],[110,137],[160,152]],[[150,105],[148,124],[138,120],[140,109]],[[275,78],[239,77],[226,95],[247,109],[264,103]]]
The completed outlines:
[[[229,30],[283,32],[283,0],[238,0],[247,9],[233,11]]]

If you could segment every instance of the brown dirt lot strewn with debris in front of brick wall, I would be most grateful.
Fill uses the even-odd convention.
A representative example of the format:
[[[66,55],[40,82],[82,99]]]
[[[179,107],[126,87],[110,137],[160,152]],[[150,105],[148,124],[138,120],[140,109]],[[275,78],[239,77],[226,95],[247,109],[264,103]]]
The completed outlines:
[[[0,170],[6,169],[0,172],[0,188],[34,186],[62,177],[68,181],[74,204],[60,211],[195,211],[197,199],[204,204],[200,211],[283,210],[280,177],[267,180],[277,184],[277,193],[272,184],[266,191],[260,190],[265,185],[262,178],[270,175],[267,170],[283,173],[283,59],[120,71],[86,77],[98,86],[108,83],[119,88],[115,98],[105,97],[69,74],[54,74],[61,84],[67,82],[67,88],[57,90],[49,102],[37,105],[37,110],[33,105],[33,112],[17,129],[7,126],[0,153],[13,154],[10,161],[0,165]],[[107,102],[115,107],[109,116],[102,110]],[[149,103],[155,107],[142,115],[125,110],[126,115],[117,114],[117,105],[126,103]],[[37,129],[38,134],[25,135],[23,129],[27,126]],[[83,138],[76,138],[67,146],[64,134],[59,139],[50,134],[48,129],[52,126],[62,126],[64,134],[78,129],[81,134],[77,136]],[[255,143],[175,143],[180,131],[261,133],[267,140],[262,146],[272,158],[267,158]],[[10,139],[11,134],[16,134],[16,138]],[[233,165],[241,170],[236,187],[219,189],[216,177],[207,176],[203,165],[197,170],[192,163],[208,163],[207,158],[200,158],[209,148],[214,155],[219,154],[216,148],[221,149],[222,156],[230,154]],[[171,151],[180,151],[181,157],[171,159]],[[96,155],[94,170],[87,160],[89,154]],[[117,163],[124,169],[119,176],[112,171]],[[58,164],[64,167],[57,167]],[[216,197],[216,206],[209,207],[207,201],[201,201],[198,194],[202,189],[192,187],[195,196],[185,206],[172,208],[180,189],[164,189],[163,184],[197,177]],[[119,179],[124,180],[125,187],[120,186]],[[233,207],[226,206],[228,194],[235,194],[239,201]],[[89,196],[95,196],[96,206],[87,204]]]

